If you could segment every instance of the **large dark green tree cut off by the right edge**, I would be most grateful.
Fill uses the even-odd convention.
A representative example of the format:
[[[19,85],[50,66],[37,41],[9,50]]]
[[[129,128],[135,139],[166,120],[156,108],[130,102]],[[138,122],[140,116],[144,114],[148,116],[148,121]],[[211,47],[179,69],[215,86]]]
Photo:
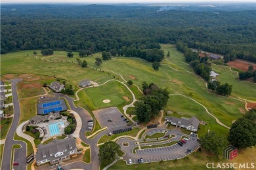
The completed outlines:
[[[243,117],[234,122],[228,134],[228,141],[237,148],[256,145],[256,124]]]

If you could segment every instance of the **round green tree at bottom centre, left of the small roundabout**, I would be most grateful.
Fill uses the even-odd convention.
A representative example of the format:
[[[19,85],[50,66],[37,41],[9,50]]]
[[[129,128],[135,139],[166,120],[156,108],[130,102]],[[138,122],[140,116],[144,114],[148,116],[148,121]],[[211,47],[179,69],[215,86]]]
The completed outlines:
[[[106,165],[112,163],[117,158],[117,153],[121,151],[119,144],[108,141],[100,146],[98,159]]]

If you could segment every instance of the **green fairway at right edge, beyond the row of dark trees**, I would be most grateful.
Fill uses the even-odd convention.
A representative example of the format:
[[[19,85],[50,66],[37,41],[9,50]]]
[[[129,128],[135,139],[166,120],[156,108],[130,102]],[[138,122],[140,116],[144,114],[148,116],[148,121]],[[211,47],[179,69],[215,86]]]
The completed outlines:
[[[220,74],[217,79],[222,83],[232,84],[232,96],[256,101],[256,84],[253,82],[239,80],[238,73],[223,65],[211,65],[213,71]]]

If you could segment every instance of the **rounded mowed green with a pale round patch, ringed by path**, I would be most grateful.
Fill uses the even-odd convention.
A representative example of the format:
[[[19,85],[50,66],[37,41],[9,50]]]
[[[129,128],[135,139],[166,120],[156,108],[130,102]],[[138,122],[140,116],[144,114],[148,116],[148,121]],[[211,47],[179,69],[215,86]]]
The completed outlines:
[[[131,92],[120,82],[111,80],[102,86],[95,88],[85,88],[79,93],[81,102],[87,103],[91,110],[104,107],[127,105],[133,100]],[[124,97],[128,97],[127,101]],[[103,100],[109,99],[110,103],[103,103]]]

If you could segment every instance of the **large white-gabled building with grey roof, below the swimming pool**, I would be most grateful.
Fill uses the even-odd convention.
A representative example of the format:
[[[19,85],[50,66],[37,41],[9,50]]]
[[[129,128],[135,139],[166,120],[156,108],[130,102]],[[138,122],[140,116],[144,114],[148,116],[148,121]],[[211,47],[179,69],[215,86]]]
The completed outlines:
[[[75,144],[75,139],[72,135],[68,135],[65,139],[53,139],[47,144],[39,144],[35,154],[37,165],[50,162],[61,163],[64,160],[69,160],[70,156],[79,153]]]

